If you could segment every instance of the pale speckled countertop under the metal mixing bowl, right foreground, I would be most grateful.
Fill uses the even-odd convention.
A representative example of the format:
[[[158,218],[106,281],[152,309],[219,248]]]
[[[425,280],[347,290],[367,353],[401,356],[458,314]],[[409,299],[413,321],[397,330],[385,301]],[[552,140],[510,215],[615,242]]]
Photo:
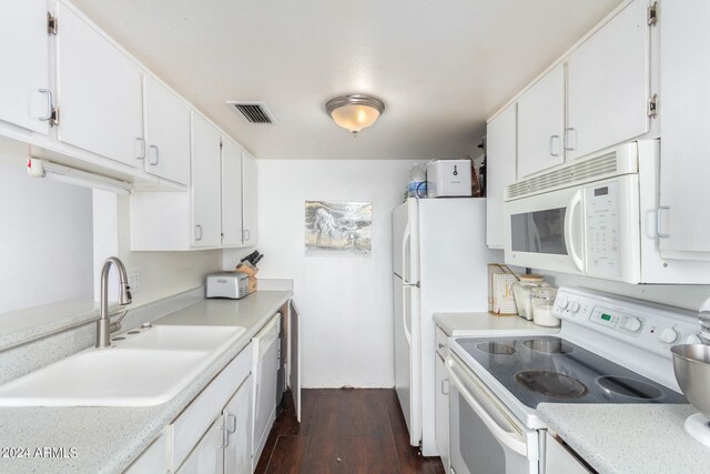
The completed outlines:
[[[537,412],[600,473],[710,472],[710,447],[683,428],[691,405],[541,403]]]

